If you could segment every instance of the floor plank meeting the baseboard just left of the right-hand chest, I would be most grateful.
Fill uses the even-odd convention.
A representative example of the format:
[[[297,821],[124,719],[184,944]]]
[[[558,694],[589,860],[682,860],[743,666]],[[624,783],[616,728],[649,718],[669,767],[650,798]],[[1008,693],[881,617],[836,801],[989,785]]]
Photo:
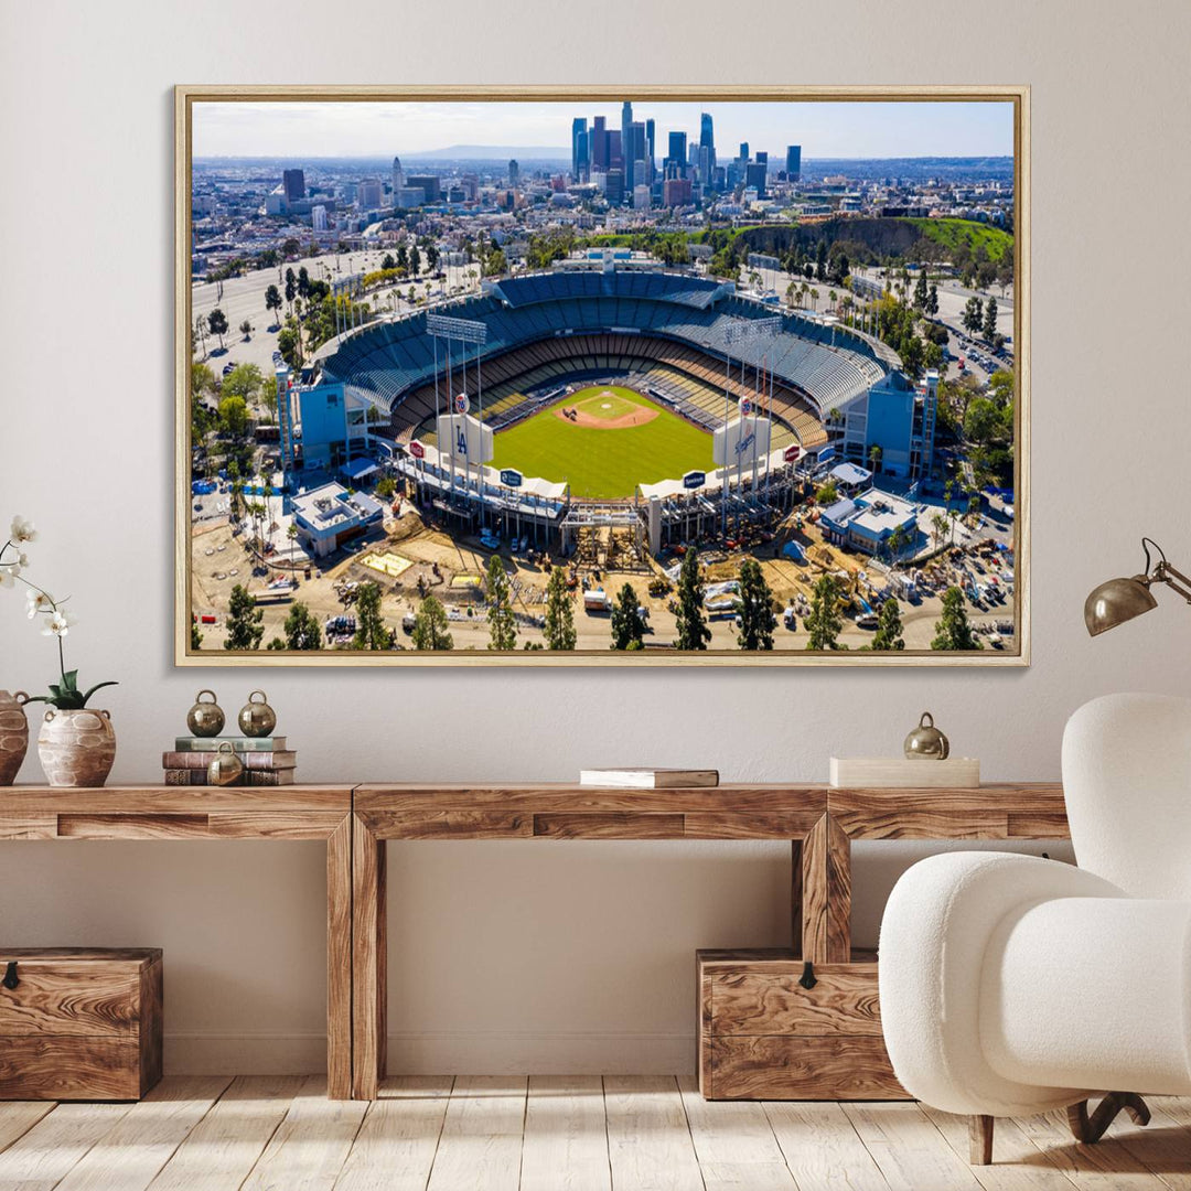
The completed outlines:
[[[604,1104],[616,1191],[704,1191],[673,1075],[605,1075]]]

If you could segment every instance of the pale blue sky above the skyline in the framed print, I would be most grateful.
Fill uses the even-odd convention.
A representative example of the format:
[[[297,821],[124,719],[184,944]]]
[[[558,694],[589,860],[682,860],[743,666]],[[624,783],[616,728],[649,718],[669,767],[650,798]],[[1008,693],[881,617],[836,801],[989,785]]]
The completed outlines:
[[[1000,102],[634,104],[634,118],[657,121],[659,157],[666,133],[698,138],[699,113],[715,119],[716,150],[803,157],[1011,156],[1014,110]],[[387,156],[457,144],[567,148],[574,116],[607,117],[621,126],[618,102],[261,102],[195,101],[195,157]],[[569,149],[568,149],[569,152]]]

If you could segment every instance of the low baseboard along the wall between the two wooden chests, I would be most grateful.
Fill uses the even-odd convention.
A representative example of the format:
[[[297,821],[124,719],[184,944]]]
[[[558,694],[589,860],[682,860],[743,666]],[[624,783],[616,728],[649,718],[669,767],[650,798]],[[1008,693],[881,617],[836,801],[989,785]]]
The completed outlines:
[[[537,1034],[442,1030],[391,1034],[388,1066],[407,1075],[694,1073],[690,1034]],[[173,1075],[288,1075],[326,1070],[322,1034],[167,1034]]]

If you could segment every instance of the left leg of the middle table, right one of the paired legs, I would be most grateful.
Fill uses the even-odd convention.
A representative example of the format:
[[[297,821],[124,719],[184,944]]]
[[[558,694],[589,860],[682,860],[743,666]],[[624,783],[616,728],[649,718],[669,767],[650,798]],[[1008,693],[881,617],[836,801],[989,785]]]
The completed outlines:
[[[385,921],[386,844],[353,816],[353,1089],[374,1100],[386,1066],[387,948]]]

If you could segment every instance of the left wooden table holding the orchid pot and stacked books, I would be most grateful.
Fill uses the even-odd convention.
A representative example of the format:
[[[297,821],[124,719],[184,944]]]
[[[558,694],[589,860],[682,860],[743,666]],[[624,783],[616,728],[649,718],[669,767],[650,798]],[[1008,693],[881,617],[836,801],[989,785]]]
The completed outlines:
[[[328,1095],[351,1096],[351,786],[0,788],[0,840],[325,840]]]

